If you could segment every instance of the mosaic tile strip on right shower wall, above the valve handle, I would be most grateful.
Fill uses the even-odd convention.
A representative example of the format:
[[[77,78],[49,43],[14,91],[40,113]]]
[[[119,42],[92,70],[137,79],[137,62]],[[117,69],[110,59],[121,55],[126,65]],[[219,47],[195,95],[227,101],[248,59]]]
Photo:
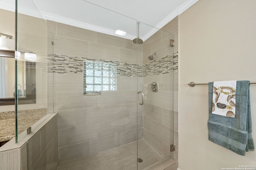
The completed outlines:
[[[178,52],[143,64],[143,77],[178,71]]]

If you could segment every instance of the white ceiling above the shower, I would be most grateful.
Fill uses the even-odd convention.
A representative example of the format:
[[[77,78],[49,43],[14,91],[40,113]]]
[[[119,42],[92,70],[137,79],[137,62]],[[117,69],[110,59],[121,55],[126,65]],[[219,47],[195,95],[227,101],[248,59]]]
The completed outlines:
[[[18,12],[125,38],[144,41],[198,0],[18,0]],[[15,0],[0,0],[0,8],[14,11]],[[155,28],[154,28],[155,27]],[[158,28],[158,29],[156,29]]]

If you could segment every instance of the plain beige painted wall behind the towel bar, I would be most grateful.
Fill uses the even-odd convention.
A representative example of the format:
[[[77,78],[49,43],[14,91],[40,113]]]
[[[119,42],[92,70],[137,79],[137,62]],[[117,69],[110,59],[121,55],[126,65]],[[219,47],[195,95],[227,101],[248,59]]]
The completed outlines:
[[[256,81],[256,1],[199,0],[179,16],[179,168],[221,170],[255,165],[256,151],[240,156],[208,141],[208,86],[191,81]],[[251,85],[256,143],[256,85]]]

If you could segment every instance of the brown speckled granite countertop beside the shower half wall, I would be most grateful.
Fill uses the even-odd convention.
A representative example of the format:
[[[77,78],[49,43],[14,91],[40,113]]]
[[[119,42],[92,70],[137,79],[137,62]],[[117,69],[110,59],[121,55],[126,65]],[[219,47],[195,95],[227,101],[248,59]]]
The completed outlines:
[[[47,114],[47,109],[18,111],[18,134],[25,131]],[[15,137],[14,111],[0,112],[0,142],[10,141]]]

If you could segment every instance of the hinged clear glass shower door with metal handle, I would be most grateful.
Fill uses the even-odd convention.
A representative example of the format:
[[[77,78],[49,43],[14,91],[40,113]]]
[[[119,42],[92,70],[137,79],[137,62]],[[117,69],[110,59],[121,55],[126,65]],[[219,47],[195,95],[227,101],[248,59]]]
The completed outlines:
[[[177,64],[172,33],[140,23],[140,36],[155,32],[143,42],[143,77],[138,90],[144,104],[138,105],[138,170],[158,166],[174,156],[174,72]],[[140,51],[139,45],[137,45]],[[175,78],[178,78],[178,72]],[[172,152],[171,152],[172,148]]]

